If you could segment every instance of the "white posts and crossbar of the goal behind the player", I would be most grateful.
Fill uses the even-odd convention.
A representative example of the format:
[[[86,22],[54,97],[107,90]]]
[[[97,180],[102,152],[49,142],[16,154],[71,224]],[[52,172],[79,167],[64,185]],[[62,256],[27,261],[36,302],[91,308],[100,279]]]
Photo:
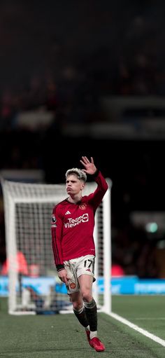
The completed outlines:
[[[94,242],[96,246],[96,263],[95,263],[95,277],[96,282],[93,285],[93,295],[102,312],[110,315],[112,311],[111,303],[111,211],[110,211],[110,191],[112,182],[108,181],[108,191],[101,202],[101,215],[99,208],[96,210],[95,228],[94,228]],[[36,310],[31,305],[31,310],[23,308],[22,304],[17,304],[16,286],[19,281],[17,273],[17,263],[13,260],[16,257],[17,235],[16,235],[16,205],[42,203],[44,205],[52,203],[52,207],[66,198],[66,186],[64,184],[29,184],[15,181],[8,181],[1,178],[1,187],[3,192],[3,206],[5,216],[5,232],[6,232],[6,256],[8,259],[8,313],[11,315],[28,315],[36,314]],[[83,195],[88,195],[96,188],[95,182],[88,182],[85,186]],[[51,219],[51,214],[50,214]],[[99,252],[99,220],[102,220],[102,243],[103,252]],[[51,237],[51,232],[50,232]],[[22,240],[24,238],[22,237]],[[50,238],[51,241],[51,238]],[[102,303],[99,302],[99,258],[103,261],[103,287],[102,287]],[[56,269],[55,269],[56,272]],[[61,311],[63,312],[63,310]],[[68,311],[66,310],[66,313]]]

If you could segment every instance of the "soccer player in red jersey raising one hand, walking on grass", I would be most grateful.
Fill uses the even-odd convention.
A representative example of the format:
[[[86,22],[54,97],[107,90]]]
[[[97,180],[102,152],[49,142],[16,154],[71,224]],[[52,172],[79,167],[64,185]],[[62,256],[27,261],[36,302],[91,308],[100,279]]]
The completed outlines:
[[[94,214],[108,189],[106,179],[89,160],[82,156],[83,169],[66,172],[68,198],[52,211],[52,249],[59,279],[66,284],[73,312],[85,328],[89,345],[97,352],[105,350],[97,337],[97,308],[92,297],[94,278]],[[94,193],[82,196],[87,174],[97,187]]]

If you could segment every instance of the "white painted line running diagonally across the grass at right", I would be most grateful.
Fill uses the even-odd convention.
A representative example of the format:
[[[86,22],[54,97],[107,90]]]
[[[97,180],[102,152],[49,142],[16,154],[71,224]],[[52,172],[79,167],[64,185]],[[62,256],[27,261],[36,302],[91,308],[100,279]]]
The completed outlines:
[[[165,347],[165,340],[163,340],[162,338],[159,338],[157,336],[155,336],[154,334],[145,331],[145,329],[136,326],[136,324],[133,324],[131,322],[129,322],[127,319],[117,315],[116,313],[111,312],[110,316],[117,319],[117,321],[122,322],[123,324],[126,324],[127,326],[131,327],[132,329],[134,329],[135,331],[138,331],[140,333],[143,334],[143,336],[146,336],[152,340],[155,340],[155,342],[159,343],[160,345],[163,345]]]

